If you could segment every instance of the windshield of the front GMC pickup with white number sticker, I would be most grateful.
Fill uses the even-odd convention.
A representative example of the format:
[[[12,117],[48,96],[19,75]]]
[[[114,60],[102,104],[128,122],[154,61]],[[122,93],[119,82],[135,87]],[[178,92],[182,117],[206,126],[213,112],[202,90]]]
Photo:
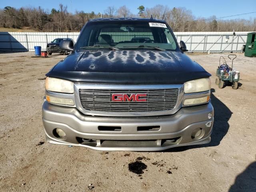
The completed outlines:
[[[174,36],[164,23],[146,21],[89,22],[76,43],[75,50],[106,49],[176,50]]]

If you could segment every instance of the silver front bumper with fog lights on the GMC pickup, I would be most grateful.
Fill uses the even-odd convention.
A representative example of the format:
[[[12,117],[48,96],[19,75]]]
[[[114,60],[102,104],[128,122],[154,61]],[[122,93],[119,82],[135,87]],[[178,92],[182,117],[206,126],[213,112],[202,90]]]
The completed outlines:
[[[44,102],[42,119],[46,140],[52,144],[83,146],[95,150],[159,151],[177,146],[206,144],[214,121],[211,103],[181,108],[168,116],[113,117],[89,116],[76,108],[56,106]],[[99,130],[119,127],[120,130]],[[157,126],[158,130],[139,131],[138,127]],[[58,138],[54,130],[60,128],[66,138]],[[200,136],[192,138],[195,129]],[[82,140],[90,139],[90,141]]]

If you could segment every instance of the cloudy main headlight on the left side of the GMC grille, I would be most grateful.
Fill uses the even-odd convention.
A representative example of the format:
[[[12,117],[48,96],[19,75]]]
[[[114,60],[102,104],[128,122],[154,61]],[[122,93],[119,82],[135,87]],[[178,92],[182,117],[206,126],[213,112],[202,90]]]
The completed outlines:
[[[47,77],[45,88],[48,91],[74,93],[74,83],[63,79]]]

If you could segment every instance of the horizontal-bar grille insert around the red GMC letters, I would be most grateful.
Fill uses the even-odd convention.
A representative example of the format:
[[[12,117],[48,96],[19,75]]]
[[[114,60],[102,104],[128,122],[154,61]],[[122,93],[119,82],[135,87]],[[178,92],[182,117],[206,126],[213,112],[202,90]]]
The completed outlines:
[[[147,94],[146,102],[113,102],[112,94]],[[172,110],[178,100],[178,88],[166,89],[79,89],[80,102],[94,112],[157,112]]]

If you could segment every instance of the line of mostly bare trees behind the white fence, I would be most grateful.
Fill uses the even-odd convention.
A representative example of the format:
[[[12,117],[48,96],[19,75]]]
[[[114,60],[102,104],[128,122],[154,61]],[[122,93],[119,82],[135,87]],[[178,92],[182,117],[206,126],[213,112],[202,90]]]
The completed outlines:
[[[230,32],[256,31],[256,18],[220,20],[216,16],[196,18],[184,7],[170,8],[156,5],[152,8],[138,7],[138,14],[133,14],[125,5],[119,8],[109,6],[103,13],[76,11],[68,12],[67,6],[59,5],[58,9],[44,10],[40,6],[13,8],[6,6],[0,9],[0,26],[5,28],[30,28],[42,32],[80,31],[84,24],[94,18],[141,17],[166,20],[174,32]]]

